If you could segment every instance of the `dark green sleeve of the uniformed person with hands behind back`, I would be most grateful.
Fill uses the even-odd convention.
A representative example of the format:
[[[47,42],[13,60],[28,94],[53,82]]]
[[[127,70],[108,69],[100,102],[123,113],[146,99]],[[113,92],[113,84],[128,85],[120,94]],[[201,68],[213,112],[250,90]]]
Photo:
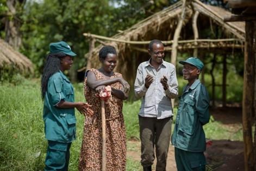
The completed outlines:
[[[201,89],[196,97],[196,110],[198,112],[199,121],[202,123],[202,125],[208,123],[210,120],[209,95],[204,86],[201,86]]]

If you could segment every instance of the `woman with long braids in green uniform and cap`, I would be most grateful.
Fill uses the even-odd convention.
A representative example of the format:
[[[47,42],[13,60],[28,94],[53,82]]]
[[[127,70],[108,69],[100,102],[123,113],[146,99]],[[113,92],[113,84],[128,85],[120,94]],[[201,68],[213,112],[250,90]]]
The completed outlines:
[[[73,64],[70,46],[65,42],[51,43],[41,78],[43,120],[48,148],[45,170],[67,170],[71,142],[76,139],[74,108],[80,113],[92,113],[89,105],[74,102],[74,89],[64,75]]]

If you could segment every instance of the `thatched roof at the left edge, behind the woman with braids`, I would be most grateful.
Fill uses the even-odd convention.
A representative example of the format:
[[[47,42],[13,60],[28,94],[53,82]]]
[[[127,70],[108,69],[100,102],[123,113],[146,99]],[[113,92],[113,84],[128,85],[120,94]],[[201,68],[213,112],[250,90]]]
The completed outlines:
[[[33,63],[0,38],[0,70],[5,65],[14,65],[22,73],[33,73]]]

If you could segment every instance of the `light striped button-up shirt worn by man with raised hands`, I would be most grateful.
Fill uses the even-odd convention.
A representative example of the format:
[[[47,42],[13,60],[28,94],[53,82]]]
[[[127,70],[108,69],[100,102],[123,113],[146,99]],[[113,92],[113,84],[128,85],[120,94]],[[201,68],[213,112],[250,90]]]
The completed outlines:
[[[142,117],[157,117],[164,119],[173,116],[171,98],[178,95],[178,81],[176,70],[173,64],[165,62],[156,70],[150,64],[150,61],[142,62],[137,70],[134,83],[135,96],[142,98],[139,115]],[[145,78],[150,74],[154,81],[149,88],[145,87]],[[166,76],[168,78],[168,89],[164,90],[160,79]]]

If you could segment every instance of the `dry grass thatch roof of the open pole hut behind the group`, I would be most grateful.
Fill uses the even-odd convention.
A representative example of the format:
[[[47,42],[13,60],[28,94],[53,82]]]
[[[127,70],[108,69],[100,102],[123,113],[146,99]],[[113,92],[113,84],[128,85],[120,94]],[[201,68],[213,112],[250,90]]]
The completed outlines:
[[[227,22],[223,21],[223,17],[231,15],[227,10],[224,10],[217,6],[211,6],[203,4],[198,0],[192,0],[189,6],[186,6],[186,15],[183,23],[183,29],[180,33],[179,40],[193,40],[193,32],[191,26],[191,20],[193,11],[198,11],[198,31],[199,38],[202,37],[201,31],[205,28],[210,28],[213,24],[222,28],[223,37],[222,38],[237,38],[241,42],[245,40],[245,23],[244,22]],[[139,23],[133,25],[127,30],[114,35],[112,38],[118,40],[126,41],[150,41],[153,39],[158,39],[161,41],[170,41],[173,39],[174,31],[177,27],[179,16],[182,12],[182,1],[177,2],[169,6],[168,8],[143,19]],[[145,57],[148,56],[143,52],[138,52],[134,48],[140,47],[147,49],[148,45],[133,45],[128,43],[120,43],[114,41],[104,42],[107,45],[113,45],[118,52],[118,63],[116,71],[121,72],[124,77],[128,77],[128,80],[133,80],[134,74],[127,72],[133,68],[135,73],[136,67],[142,61],[145,61]],[[143,47],[142,47],[143,46]],[[91,67],[98,68],[100,63],[98,61],[98,52],[103,47],[103,45],[98,45],[92,50]],[[85,55],[88,57],[89,53]],[[134,57],[136,59],[134,60]],[[134,66],[135,65],[135,66]]]

